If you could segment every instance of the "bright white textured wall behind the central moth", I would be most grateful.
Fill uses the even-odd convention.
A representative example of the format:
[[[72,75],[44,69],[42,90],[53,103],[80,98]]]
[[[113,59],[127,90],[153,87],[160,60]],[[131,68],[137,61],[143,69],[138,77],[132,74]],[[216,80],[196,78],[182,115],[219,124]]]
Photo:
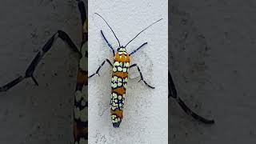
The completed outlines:
[[[163,18],[131,42],[131,52],[144,42],[148,44],[132,55],[131,64],[138,63],[144,79],[155,86],[154,90],[139,82],[138,71],[130,70],[130,81],[126,90],[124,118],[120,128],[114,128],[110,121],[110,77],[111,68],[106,63],[101,76],[89,79],[89,142],[90,143],[167,143],[168,142],[168,15],[167,1],[89,1],[89,74],[109,58],[112,52],[100,34],[114,46],[118,42],[106,23],[95,12],[101,14],[110,24],[122,45],[152,22]]]

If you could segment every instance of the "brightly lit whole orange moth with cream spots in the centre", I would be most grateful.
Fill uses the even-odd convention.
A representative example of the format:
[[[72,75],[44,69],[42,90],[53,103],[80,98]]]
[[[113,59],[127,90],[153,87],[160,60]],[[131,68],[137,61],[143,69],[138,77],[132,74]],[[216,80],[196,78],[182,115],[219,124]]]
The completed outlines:
[[[97,13],[95,13],[95,14],[97,14]],[[97,15],[102,18],[102,16],[100,14],[97,14]],[[106,20],[104,18],[102,18],[102,19],[104,20],[104,22],[106,22]],[[159,22],[161,20],[162,20],[162,18],[156,22]],[[156,23],[156,22],[154,22],[154,23]],[[154,23],[152,23],[150,26],[154,25]],[[110,25],[107,22],[106,22],[106,25],[110,27]],[[150,26],[147,26],[144,30],[146,30]],[[112,30],[111,27],[110,27],[110,30],[114,34],[114,30]],[[134,38],[136,38],[144,30],[139,32]],[[144,82],[146,84],[146,86],[150,87],[151,89],[154,89],[154,86],[150,86],[144,80],[144,78],[142,76],[142,72],[139,69],[138,65],[137,64],[130,65],[130,55],[132,55],[132,54],[136,53],[138,50],[140,50],[142,48],[142,46],[145,46],[147,44],[147,42],[143,43],[136,50],[134,50],[130,54],[128,54],[126,52],[126,46],[128,46],[128,44],[130,42],[132,42],[134,40],[134,38],[132,38],[130,40],[130,42],[128,42],[125,46],[121,46],[116,34],[114,34],[114,37],[118,40],[118,44],[119,44],[117,52],[115,53],[113,46],[111,46],[110,42],[107,41],[102,30],[101,30],[101,34],[102,34],[102,37],[104,38],[104,40],[106,41],[106,44],[110,47],[110,49],[113,52],[114,62],[112,64],[110,62],[110,60],[106,58],[106,60],[104,62],[102,62],[101,66],[98,67],[98,70],[96,70],[96,72],[94,74],[91,74],[89,78],[93,77],[95,74],[98,74],[99,70],[101,70],[101,68],[105,64],[105,62],[108,62],[110,64],[110,66],[112,66],[113,72],[112,72],[112,78],[111,78],[112,90],[111,90],[111,100],[110,100],[110,106],[111,106],[110,114],[111,114],[111,120],[112,120],[113,126],[119,127],[120,123],[122,122],[122,110],[123,110],[125,97],[126,97],[126,86],[127,86],[127,82],[128,82],[129,69],[136,66],[138,69],[138,72],[140,74],[140,77],[141,77],[140,81]]]

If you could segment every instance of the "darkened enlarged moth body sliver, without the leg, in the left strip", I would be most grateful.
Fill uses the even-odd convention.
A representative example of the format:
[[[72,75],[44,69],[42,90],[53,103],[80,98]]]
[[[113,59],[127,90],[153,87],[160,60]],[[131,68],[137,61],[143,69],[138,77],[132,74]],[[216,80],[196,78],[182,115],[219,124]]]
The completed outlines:
[[[82,19],[82,58],[78,64],[77,85],[74,94],[74,144],[88,143],[88,19],[86,8],[78,1]]]

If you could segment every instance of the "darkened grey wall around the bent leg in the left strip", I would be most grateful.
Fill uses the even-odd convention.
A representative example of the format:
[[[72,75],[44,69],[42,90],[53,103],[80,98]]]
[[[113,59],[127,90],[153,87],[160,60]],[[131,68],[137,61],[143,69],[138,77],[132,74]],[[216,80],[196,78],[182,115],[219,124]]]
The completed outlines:
[[[37,51],[57,30],[79,46],[77,2],[2,0],[0,2],[0,85],[24,74]],[[61,40],[30,79],[0,93],[1,144],[72,143],[74,88],[78,62]]]

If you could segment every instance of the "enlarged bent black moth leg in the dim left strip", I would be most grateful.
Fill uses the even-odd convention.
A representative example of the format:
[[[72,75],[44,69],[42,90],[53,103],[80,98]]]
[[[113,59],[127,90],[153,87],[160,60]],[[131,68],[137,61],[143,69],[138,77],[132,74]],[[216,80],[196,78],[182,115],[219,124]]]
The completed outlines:
[[[66,34],[62,30],[58,30],[57,33],[55,33],[47,42],[46,44],[42,47],[42,50],[38,52],[38,54],[35,56],[33,61],[30,63],[30,66],[26,69],[26,73],[24,76],[20,76],[18,78],[15,78],[13,81],[8,82],[6,85],[0,87],[0,92],[2,91],[7,91],[13,86],[17,85],[19,82],[22,82],[23,79],[25,78],[32,78],[34,83],[38,85],[37,80],[34,78],[34,70],[36,69],[36,66],[38,66],[38,63],[41,61],[43,56],[46,54],[47,51],[50,50],[50,48],[53,46],[55,40],[57,38],[62,38],[64,42],[68,45],[68,47],[73,50],[75,53],[79,54],[79,57],[82,56],[80,51],[78,50],[77,46],[75,46],[74,42],[70,39],[68,34]]]

